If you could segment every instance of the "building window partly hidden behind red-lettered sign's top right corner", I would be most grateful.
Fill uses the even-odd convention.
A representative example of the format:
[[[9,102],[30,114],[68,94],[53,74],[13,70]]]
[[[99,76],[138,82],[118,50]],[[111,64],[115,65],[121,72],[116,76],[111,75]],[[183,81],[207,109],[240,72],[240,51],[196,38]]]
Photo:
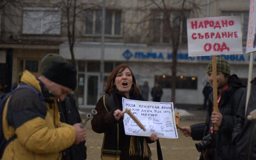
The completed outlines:
[[[223,11],[222,14],[224,16],[241,16],[243,41],[246,41],[249,19],[248,11]]]

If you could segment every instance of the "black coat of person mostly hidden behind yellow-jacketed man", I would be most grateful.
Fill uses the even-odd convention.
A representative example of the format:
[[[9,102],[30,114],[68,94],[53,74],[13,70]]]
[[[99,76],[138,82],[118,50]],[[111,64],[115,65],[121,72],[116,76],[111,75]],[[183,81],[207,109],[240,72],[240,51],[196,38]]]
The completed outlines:
[[[68,94],[63,102],[59,103],[60,122],[74,125],[81,122],[81,117],[76,108],[75,98],[73,94]],[[62,160],[84,160],[86,159],[85,141],[80,144],[73,144],[71,147],[63,151]]]

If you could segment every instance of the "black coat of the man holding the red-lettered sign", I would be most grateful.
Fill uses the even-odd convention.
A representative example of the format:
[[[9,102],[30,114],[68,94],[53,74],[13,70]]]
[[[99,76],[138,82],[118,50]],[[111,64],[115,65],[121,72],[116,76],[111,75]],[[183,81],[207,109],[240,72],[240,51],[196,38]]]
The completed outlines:
[[[235,146],[231,143],[231,135],[235,125],[235,115],[240,104],[245,86],[237,75],[232,75],[228,81],[229,87],[222,93],[219,103],[219,111],[222,114],[222,122],[219,131],[216,132],[215,144],[218,160],[235,159]],[[205,123],[191,126],[191,137],[193,140],[202,140],[209,134],[211,116],[213,112],[213,92],[209,96],[209,108]],[[203,159],[202,154],[200,159]]]

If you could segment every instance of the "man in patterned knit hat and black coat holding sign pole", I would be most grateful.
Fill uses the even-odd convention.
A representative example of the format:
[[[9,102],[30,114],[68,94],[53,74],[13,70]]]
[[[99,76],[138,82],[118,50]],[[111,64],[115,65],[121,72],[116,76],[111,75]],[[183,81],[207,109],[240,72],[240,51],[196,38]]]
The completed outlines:
[[[209,107],[205,123],[180,127],[186,137],[202,140],[196,144],[201,152],[200,160],[236,159],[235,146],[231,143],[235,115],[242,99],[245,86],[237,75],[230,75],[230,64],[224,58],[216,57],[219,112],[213,111],[213,92],[209,96]],[[207,67],[208,80],[213,85],[212,61]],[[214,131],[214,125],[219,127]]]

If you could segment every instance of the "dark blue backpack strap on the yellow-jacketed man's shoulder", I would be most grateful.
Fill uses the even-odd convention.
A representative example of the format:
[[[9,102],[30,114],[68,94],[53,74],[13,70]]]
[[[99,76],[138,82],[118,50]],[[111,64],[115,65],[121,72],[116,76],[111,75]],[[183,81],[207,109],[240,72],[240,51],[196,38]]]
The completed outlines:
[[[2,156],[3,156],[3,152],[4,152],[4,149],[5,149],[5,147],[12,141],[12,140],[14,140],[14,139],[16,139],[17,138],[17,135],[14,135],[12,138],[10,138],[10,139],[8,139],[8,140],[6,140],[5,138],[4,138],[4,135],[3,135],[3,126],[2,126],[2,120],[3,120],[3,110],[4,110],[4,106],[5,106],[5,103],[6,103],[6,101],[7,101],[7,99],[9,98],[9,96],[11,95],[11,94],[13,94],[15,91],[18,91],[18,90],[21,90],[21,89],[24,89],[24,88],[29,88],[30,90],[32,90],[32,91],[34,91],[35,92],[35,94],[37,95],[37,97],[38,98],[40,98],[40,100],[41,100],[41,102],[42,102],[42,104],[44,105],[44,106],[46,106],[46,103],[45,103],[45,101],[44,101],[44,99],[43,99],[43,94],[42,93],[40,93],[38,90],[36,90],[36,88],[35,87],[32,87],[32,86],[29,86],[29,85],[26,85],[26,84],[23,84],[23,85],[20,85],[19,87],[16,87],[16,86],[14,86],[13,87],[13,91],[12,92],[8,92],[8,93],[5,93],[5,94],[3,94],[1,97],[0,97],[0,99],[1,99],[1,102],[0,102],[0,137],[1,137],[1,140],[0,140],[0,146],[1,146],[1,149],[0,149],[0,159],[2,158]],[[8,104],[9,105],[9,104]]]

